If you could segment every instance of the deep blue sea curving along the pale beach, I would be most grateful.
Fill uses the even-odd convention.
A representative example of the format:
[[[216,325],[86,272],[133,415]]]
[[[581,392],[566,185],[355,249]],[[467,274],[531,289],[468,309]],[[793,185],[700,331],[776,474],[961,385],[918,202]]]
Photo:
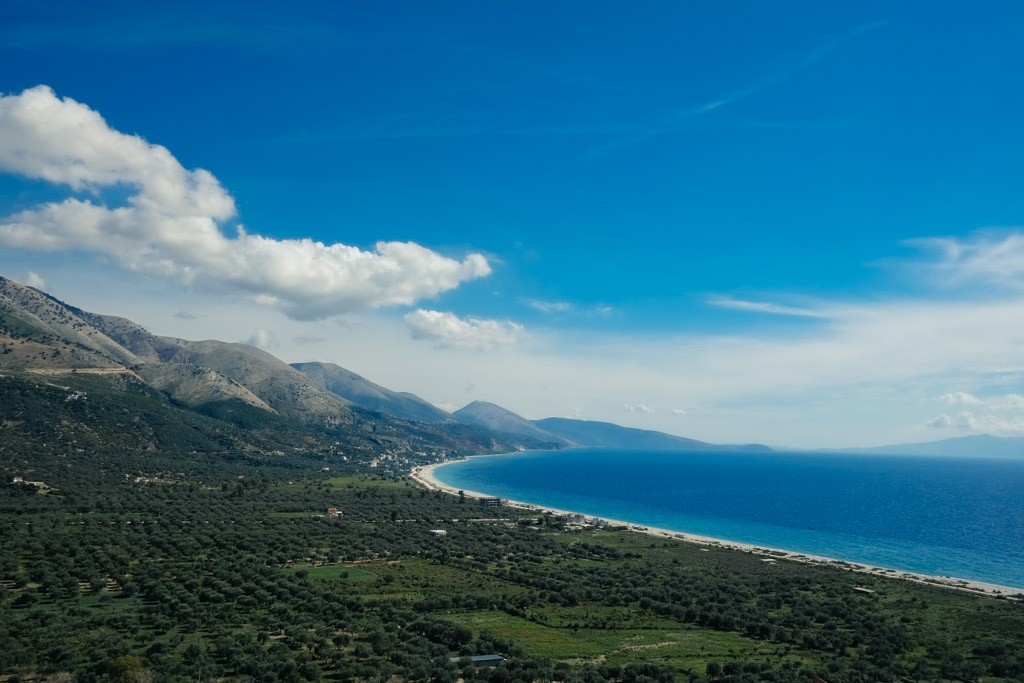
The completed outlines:
[[[1024,589],[1024,460],[525,452],[437,468],[466,490]]]

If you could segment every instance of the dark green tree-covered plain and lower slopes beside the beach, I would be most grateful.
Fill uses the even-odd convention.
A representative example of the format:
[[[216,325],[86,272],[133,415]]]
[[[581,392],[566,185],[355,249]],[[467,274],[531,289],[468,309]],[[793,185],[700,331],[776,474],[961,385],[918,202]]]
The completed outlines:
[[[22,680],[1024,677],[1011,599],[566,529],[372,476],[376,432],[243,430],[74,379],[0,382],[0,672]]]

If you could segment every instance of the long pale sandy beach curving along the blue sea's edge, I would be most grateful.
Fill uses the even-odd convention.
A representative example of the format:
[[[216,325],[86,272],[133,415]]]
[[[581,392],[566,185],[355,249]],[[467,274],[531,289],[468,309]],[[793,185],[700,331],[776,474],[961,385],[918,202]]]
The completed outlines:
[[[510,454],[488,454],[485,456],[473,456],[473,458],[495,458],[503,455]],[[449,484],[440,481],[434,476],[434,470],[442,465],[449,465],[455,462],[462,462],[468,460],[468,458],[460,458],[459,460],[449,460],[440,463],[432,463],[430,465],[420,465],[414,467],[410,473],[410,477],[426,488],[433,490],[439,490],[452,496],[458,496],[459,492],[462,493],[467,498],[495,498],[486,494],[481,494],[475,490],[459,489],[455,486],[450,486]],[[574,512],[572,510],[561,510],[559,508],[552,508],[544,505],[535,505],[532,503],[525,503],[522,501],[512,501],[507,500],[510,507],[518,508],[521,510],[534,510],[537,512],[548,513],[553,515],[567,516],[567,515],[582,515],[587,518],[591,523],[602,521],[613,526],[624,526],[631,531],[637,531],[639,533],[646,533],[648,536],[653,536],[659,539],[673,539],[676,541],[685,541],[687,543],[694,543],[701,546],[710,546],[713,548],[723,548],[726,550],[737,550],[741,552],[754,553],[756,555],[765,556],[764,559],[782,559],[782,560],[793,560],[795,562],[802,562],[804,564],[818,564],[818,565],[828,565],[840,569],[846,569],[848,571],[856,571],[859,573],[871,574],[874,577],[884,577],[887,579],[900,579],[903,581],[912,581],[919,584],[925,584],[927,586],[935,586],[938,588],[947,588],[956,591],[964,591],[967,593],[972,593],[975,595],[987,595],[989,597],[1009,597],[1016,596],[1018,594],[1024,594],[1024,589],[1013,588],[1010,586],[999,586],[998,584],[987,584],[980,581],[971,581],[968,579],[957,579],[954,577],[939,577],[935,574],[921,573],[918,571],[906,571],[903,569],[893,569],[890,567],[880,567],[871,564],[864,564],[863,562],[854,562],[851,560],[841,560],[834,557],[823,557],[820,555],[811,555],[808,553],[799,553],[792,550],[784,550],[782,548],[770,548],[768,546],[759,546],[750,543],[742,543],[739,541],[727,541],[725,539],[716,539],[710,536],[700,536],[697,533],[688,533],[686,531],[676,531],[668,528],[660,528],[656,526],[644,526],[634,522],[623,521],[621,519],[611,519],[608,517],[599,517],[596,515],[584,515],[583,513]]]

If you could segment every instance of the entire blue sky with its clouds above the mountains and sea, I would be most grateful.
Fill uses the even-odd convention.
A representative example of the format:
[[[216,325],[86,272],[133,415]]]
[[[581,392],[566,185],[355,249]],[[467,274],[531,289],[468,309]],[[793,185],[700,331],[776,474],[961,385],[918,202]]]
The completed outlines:
[[[0,272],[70,303],[447,408],[1024,433],[1019,3],[4,7]]]

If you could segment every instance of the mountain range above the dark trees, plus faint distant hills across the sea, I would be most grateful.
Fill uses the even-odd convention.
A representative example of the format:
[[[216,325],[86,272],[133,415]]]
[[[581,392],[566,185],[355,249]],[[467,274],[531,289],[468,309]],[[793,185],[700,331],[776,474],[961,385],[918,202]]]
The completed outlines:
[[[76,374],[105,377],[112,386],[137,384],[176,409],[207,417],[250,425],[283,420],[304,428],[344,428],[373,433],[375,442],[398,444],[399,450],[416,443],[475,453],[566,447],[771,451],[607,422],[528,420],[482,400],[447,413],[335,364],[289,365],[249,344],[154,335],[127,318],[88,312],[0,276],[0,377]],[[843,452],[1020,456],[1024,438],[977,435]]]

